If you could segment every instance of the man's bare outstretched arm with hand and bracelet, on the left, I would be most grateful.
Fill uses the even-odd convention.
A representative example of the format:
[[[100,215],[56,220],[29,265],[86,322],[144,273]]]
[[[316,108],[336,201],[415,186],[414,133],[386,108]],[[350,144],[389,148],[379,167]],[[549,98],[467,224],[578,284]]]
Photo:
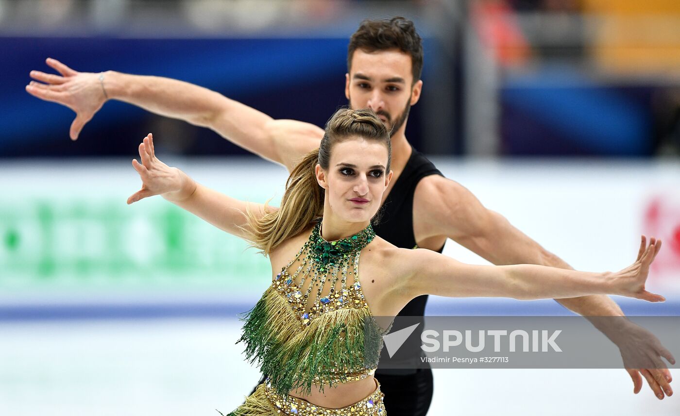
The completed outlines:
[[[297,160],[318,147],[324,131],[296,120],[274,120],[267,114],[201,86],[170,78],[129,75],[116,71],[78,72],[58,60],[46,61],[61,75],[31,71],[27,91],[75,111],[71,139],[108,99],[137,105],[152,113],[211,128],[225,139],[263,158],[292,169]]]

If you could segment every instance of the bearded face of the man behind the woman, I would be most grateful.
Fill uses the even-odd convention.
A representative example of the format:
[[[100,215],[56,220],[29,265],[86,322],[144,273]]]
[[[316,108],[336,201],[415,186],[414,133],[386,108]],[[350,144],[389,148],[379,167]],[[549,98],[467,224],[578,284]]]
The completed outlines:
[[[345,78],[350,107],[373,109],[392,135],[404,128],[409,109],[418,102],[422,89],[422,81],[413,84],[411,56],[396,49],[355,50]]]

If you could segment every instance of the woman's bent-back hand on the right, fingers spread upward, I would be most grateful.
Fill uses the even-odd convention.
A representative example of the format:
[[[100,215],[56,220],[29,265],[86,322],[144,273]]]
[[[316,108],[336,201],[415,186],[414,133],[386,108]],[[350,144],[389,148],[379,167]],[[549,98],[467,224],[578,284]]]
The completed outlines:
[[[649,265],[654,261],[656,255],[659,254],[660,249],[661,240],[651,237],[649,245],[647,245],[647,237],[643,235],[637,260],[622,271],[613,273],[615,288],[613,294],[647,300],[649,302],[664,302],[666,300],[664,296],[645,290],[645,282],[647,281],[647,275],[649,275]]]

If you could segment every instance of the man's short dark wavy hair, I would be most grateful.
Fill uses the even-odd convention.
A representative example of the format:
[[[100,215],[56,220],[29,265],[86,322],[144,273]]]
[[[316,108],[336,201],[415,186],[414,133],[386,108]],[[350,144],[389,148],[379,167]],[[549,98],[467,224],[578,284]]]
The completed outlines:
[[[423,70],[423,46],[420,35],[415,32],[411,20],[401,16],[390,20],[364,20],[359,29],[350,38],[347,47],[347,72],[352,68],[354,51],[360,49],[366,52],[376,50],[398,49],[411,55],[411,72],[413,82],[420,80]]]

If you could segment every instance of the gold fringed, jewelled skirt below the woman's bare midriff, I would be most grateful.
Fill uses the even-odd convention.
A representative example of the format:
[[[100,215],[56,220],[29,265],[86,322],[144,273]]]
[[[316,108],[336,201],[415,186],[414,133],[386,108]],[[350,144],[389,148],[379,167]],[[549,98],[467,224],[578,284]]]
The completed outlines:
[[[380,391],[380,383],[377,380],[375,383],[375,392],[362,400],[341,409],[329,409],[301,398],[277,394],[265,382],[258,385],[255,392],[245,399],[245,403],[227,416],[386,416],[383,404],[385,395]]]

